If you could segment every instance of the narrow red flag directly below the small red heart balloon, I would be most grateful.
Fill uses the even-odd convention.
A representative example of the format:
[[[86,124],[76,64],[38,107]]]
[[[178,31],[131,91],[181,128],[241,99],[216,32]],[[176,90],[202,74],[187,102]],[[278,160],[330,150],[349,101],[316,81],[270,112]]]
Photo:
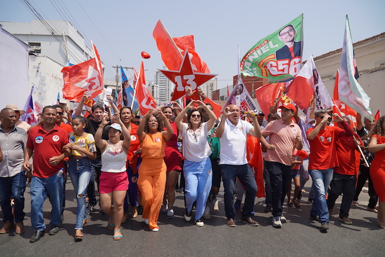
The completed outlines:
[[[137,83],[137,98],[139,102],[140,113],[145,114],[149,109],[156,109],[157,103],[146,87],[146,79],[144,77],[143,61],[140,65],[139,78]]]

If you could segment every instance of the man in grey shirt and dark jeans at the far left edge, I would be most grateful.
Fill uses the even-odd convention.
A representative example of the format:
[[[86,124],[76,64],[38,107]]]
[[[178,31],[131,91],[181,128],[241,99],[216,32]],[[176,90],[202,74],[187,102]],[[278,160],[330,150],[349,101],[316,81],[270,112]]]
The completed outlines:
[[[24,149],[27,133],[15,127],[16,113],[13,109],[4,108],[0,112],[0,152],[4,160],[0,160],[0,205],[3,210],[4,227],[0,234],[8,233],[16,227],[16,234],[24,232],[24,191],[26,174],[23,169]],[[14,201],[12,214],[11,199]]]

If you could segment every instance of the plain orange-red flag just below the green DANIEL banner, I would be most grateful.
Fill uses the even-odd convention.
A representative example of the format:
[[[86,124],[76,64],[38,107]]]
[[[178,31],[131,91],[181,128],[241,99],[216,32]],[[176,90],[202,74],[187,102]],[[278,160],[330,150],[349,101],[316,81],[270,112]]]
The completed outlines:
[[[280,97],[282,91],[285,89],[285,83],[272,83],[259,87],[255,91],[255,97],[257,98],[259,107],[266,115],[270,113],[269,109],[274,105],[275,100]]]

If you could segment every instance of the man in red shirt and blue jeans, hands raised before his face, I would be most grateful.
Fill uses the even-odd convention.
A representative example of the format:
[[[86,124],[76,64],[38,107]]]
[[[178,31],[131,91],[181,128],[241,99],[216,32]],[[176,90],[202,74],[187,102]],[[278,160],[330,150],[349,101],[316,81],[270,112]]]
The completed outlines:
[[[333,114],[335,122],[340,123],[343,129],[326,126],[331,121],[326,110],[317,110],[314,115],[316,126],[306,132],[310,143],[309,174],[316,191],[310,218],[319,221],[321,231],[326,231],[329,229],[329,209],[325,193],[333,179],[333,168],[338,166],[335,142],[338,137],[353,136],[353,130],[336,113]]]

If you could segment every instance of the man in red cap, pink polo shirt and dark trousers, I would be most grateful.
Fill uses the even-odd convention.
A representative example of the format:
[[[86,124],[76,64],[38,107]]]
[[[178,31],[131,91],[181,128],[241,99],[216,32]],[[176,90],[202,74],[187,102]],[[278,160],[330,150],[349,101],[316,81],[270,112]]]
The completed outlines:
[[[273,226],[277,228],[286,222],[282,205],[291,179],[293,151],[302,149],[301,129],[293,120],[295,106],[286,103],[279,108],[282,118],[268,123],[262,130],[263,137],[269,136],[264,159],[272,186]]]

